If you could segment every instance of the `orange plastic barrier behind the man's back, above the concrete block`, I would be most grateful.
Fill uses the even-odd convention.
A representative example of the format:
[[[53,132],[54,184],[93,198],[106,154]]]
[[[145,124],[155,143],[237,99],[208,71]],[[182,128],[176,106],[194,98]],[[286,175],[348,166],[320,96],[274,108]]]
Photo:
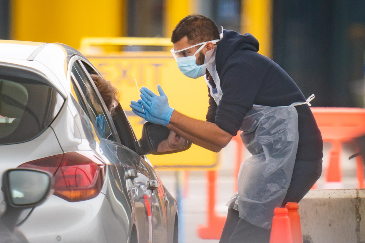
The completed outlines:
[[[352,141],[354,137],[365,134],[365,109],[342,107],[313,107],[312,113],[316,119],[323,141],[331,142],[330,160],[326,170],[327,182],[341,182],[340,166],[341,143]],[[356,158],[358,187],[364,187],[364,171],[361,156]]]

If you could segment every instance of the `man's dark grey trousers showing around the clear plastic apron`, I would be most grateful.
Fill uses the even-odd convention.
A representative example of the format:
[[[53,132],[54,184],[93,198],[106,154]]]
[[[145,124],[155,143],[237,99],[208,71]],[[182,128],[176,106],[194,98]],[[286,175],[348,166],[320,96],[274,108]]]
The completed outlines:
[[[288,202],[299,203],[322,173],[322,159],[296,160],[292,179],[281,207]],[[219,243],[269,243],[270,231],[250,224],[239,217],[238,211],[228,209],[226,223]]]

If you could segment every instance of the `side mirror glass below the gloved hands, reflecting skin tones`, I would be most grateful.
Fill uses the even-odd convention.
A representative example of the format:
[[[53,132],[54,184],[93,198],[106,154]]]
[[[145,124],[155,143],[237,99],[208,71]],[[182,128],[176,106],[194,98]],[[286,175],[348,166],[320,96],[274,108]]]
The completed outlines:
[[[165,126],[145,122],[138,145],[139,154],[169,154],[187,150],[191,142]]]

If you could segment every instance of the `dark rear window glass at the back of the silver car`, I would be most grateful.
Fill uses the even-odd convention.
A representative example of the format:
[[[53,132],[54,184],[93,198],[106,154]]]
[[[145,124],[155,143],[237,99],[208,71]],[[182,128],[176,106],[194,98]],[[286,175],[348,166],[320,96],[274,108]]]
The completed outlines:
[[[41,74],[0,65],[0,145],[37,137],[51,124],[64,100]]]

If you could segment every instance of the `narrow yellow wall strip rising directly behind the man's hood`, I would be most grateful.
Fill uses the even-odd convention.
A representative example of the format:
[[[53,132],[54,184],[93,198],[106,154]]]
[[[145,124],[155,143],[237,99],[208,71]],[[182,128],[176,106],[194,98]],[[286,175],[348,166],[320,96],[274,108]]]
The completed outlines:
[[[272,0],[242,0],[241,32],[253,34],[260,54],[272,55]]]

